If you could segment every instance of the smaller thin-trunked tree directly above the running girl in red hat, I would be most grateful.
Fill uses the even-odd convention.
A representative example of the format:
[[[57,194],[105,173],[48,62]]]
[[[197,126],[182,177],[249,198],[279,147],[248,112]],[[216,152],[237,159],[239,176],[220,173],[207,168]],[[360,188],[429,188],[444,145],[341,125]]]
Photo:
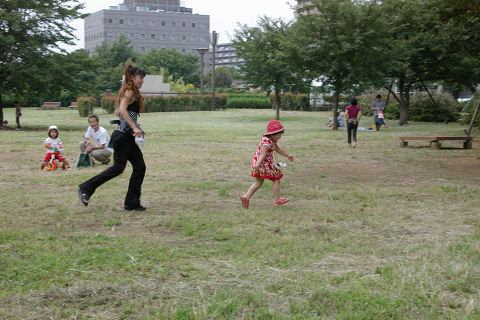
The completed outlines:
[[[244,25],[236,30],[233,40],[237,55],[244,60],[240,72],[247,86],[268,92],[273,87],[277,120],[280,118],[280,92],[299,82],[284,46],[289,27],[290,24],[282,19],[261,17],[256,27]]]

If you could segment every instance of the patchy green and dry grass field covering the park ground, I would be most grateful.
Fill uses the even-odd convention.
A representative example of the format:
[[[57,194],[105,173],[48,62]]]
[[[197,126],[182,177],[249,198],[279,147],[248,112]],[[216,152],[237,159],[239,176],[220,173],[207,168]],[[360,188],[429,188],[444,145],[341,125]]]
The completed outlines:
[[[479,131],[471,150],[401,149],[465,127],[391,123],[350,149],[329,113],[282,112],[290,203],[267,182],[245,210],[273,111],[145,114],[140,213],[123,210],[129,165],[88,207],[77,185],[104,166],[39,170],[47,127],[75,163],[85,118],[23,114],[0,131],[0,319],[480,319]]]

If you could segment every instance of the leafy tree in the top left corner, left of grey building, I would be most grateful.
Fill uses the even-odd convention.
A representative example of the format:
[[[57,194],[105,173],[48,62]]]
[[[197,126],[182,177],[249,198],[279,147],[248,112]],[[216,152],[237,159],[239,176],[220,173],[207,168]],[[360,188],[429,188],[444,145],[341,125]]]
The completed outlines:
[[[10,90],[23,91],[61,43],[73,44],[70,21],[82,18],[78,0],[0,0],[0,101]],[[47,61],[48,62],[48,61]],[[41,88],[38,88],[41,90]]]

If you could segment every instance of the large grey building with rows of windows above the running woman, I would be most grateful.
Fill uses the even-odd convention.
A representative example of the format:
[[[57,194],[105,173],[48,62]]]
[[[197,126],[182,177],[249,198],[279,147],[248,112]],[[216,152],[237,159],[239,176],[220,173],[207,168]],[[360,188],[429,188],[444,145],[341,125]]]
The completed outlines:
[[[209,47],[209,32],[210,16],[193,14],[180,0],[125,0],[85,18],[85,50],[93,54],[123,34],[141,53],[175,49],[198,55],[197,48]]]

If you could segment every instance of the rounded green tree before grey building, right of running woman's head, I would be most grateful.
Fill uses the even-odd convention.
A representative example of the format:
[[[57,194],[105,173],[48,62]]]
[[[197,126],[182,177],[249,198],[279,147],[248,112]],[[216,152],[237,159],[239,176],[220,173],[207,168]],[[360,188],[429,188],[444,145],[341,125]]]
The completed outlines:
[[[140,66],[147,71],[165,68],[169,74],[173,75],[174,80],[183,79],[185,83],[199,86],[199,62],[199,57],[196,55],[182,54],[175,49],[152,49],[141,57]]]

